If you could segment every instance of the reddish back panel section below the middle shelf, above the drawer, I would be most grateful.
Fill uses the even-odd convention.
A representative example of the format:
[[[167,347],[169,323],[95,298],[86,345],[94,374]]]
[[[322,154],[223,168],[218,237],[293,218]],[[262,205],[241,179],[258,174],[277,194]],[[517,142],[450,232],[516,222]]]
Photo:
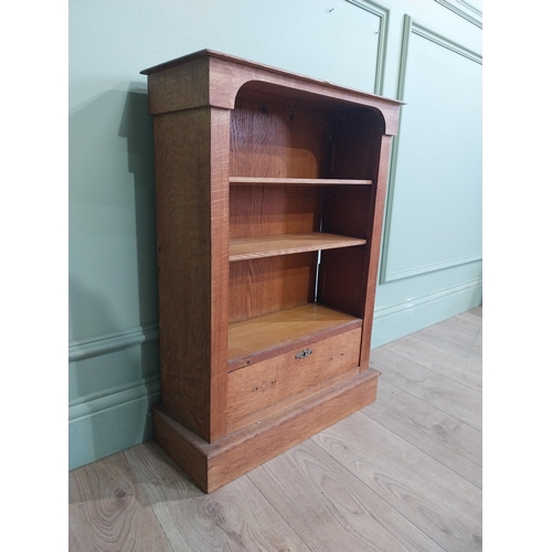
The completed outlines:
[[[317,259],[314,252],[231,263],[229,321],[314,301]]]

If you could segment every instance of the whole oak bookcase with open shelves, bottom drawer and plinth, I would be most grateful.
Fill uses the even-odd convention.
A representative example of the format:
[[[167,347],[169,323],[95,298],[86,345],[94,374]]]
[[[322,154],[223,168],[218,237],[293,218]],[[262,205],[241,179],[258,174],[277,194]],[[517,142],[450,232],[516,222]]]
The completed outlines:
[[[155,437],[210,492],[375,400],[370,339],[401,103],[209,50],[142,74]]]

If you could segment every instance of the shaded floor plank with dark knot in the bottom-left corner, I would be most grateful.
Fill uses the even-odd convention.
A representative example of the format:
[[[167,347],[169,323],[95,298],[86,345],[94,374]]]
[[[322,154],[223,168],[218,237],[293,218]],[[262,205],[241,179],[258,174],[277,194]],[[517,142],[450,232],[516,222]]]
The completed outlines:
[[[70,552],[172,552],[123,453],[70,473]]]

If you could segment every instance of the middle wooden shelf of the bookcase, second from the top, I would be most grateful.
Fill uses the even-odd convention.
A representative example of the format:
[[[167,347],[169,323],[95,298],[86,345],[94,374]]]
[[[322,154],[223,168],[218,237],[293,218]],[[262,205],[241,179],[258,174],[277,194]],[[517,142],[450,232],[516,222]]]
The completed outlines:
[[[365,243],[365,240],[359,237],[338,236],[322,232],[242,237],[230,240],[230,262],[291,255],[309,251],[353,247],[355,245],[364,245]]]

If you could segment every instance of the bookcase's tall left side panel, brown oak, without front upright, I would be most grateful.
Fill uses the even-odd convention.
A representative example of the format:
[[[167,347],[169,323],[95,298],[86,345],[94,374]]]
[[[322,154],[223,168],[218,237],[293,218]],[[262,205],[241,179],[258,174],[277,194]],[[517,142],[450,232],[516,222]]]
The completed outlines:
[[[198,108],[153,118],[162,402],[210,439],[211,123]]]

